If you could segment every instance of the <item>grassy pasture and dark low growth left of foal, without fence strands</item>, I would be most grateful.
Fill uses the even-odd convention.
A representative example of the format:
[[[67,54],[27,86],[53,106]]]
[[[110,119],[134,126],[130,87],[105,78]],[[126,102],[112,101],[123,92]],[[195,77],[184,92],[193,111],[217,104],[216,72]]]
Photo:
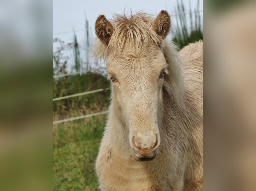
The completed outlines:
[[[104,75],[54,79],[53,97],[107,88]],[[107,109],[110,91],[53,101],[53,121]],[[97,190],[94,164],[106,123],[98,115],[53,125],[53,190]]]

